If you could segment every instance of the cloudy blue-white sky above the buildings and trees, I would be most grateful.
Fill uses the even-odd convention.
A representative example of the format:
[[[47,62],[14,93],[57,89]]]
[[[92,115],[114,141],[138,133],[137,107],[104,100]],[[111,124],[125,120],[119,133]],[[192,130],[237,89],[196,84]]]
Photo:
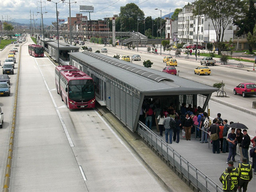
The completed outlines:
[[[174,12],[175,8],[183,8],[184,5],[194,2],[195,0],[1,0],[0,2],[0,20],[9,20],[17,22],[18,19],[38,19],[40,20],[41,4],[44,18],[56,19],[56,4],[58,3],[59,18],[67,20],[69,17],[69,2],[71,6],[71,17],[76,17],[79,12],[80,5],[93,6],[94,12],[91,13],[91,20],[103,19],[104,17],[113,17],[120,13],[120,7],[128,3],[134,3],[145,13],[145,17],[152,16],[153,18],[160,17]],[[54,2],[54,3],[53,3]],[[76,2],[76,3],[75,3]],[[155,10],[155,9],[158,10]],[[161,12],[159,11],[161,10]],[[40,12],[40,13],[37,13]],[[45,13],[47,12],[47,13]],[[31,14],[31,16],[30,16]],[[88,16],[88,13],[83,13]]]

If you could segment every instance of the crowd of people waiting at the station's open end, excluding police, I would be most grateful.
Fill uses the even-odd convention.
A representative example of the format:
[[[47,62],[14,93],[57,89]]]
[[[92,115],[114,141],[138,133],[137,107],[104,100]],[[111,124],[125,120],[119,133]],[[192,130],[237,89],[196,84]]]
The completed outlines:
[[[154,118],[153,118],[154,117]],[[159,104],[154,102],[145,102],[141,109],[141,122],[145,122],[145,125],[152,129],[153,120],[156,124],[157,132],[163,137],[163,131],[166,143],[172,144],[173,141],[179,143],[180,131],[184,129],[186,132],[186,141],[191,140],[191,134],[195,132],[196,138],[200,138],[200,143],[212,143],[212,153],[228,153],[228,162],[236,162],[236,149],[239,148],[241,154],[239,163],[243,163],[243,159],[246,159],[246,163],[249,163],[248,150],[250,143],[253,143],[254,155],[252,168],[254,168],[254,174],[256,175],[256,136],[251,140],[247,134],[246,129],[235,129],[230,127],[234,122],[221,118],[221,113],[218,113],[216,118],[209,119],[208,113],[204,112],[200,107],[191,107],[191,104],[186,107],[183,103],[180,106],[180,110],[175,111],[173,104],[170,107],[161,109]],[[256,133],[256,132],[255,132]],[[216,136],[216,138],[214,138]]]

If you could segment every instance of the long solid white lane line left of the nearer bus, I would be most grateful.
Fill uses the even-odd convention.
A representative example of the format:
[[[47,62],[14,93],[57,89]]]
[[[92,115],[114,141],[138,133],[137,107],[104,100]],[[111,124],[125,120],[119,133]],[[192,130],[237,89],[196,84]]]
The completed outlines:
[[[34,59],[35,59],[35,61],[36,61],[36,58],[34,58]],[[62,125],[62,127],[63,127],[63,129],[64,129],[64,132],[65,132],[65,134],[66,134],[66,136],[67,136],[69,145],[70,145],[70,147],[74,147],[75,145],[74,145],[74,143],[73,143],[73,141],[72,141],[72,139],[71,139],[71,137],[70,137],[70,135],[69,135],[69,133],[68,133],[67,127],[66,127],[66,125],[65,125],[65,123],[64,123],[64,121],[63,121],[63,118],[62,118],[62,116],[61,116],[61,114],[60,114],[60,111],[59,111],[59,109],[58,109],[58,107],[57,107],[57,105],[56,105],[56,102],[55,102],[55,100],[54,100],[54,98],[53,98],[53,96],[52,96],[51,90],[49,89],[49,86],[48,86],[48,84],[47,84],[46,81],[45,81],[45,77],[44,77],[44,75],[43,75],[43,73],[42,73],[42,70],[40,70],[40,67],[39,67],[37,61],[36,61],[36,65],[37,65],[37,67],[38,67],[38,70],[40,71],[40,74],[41,74],[41,76],[42,76],[42,78],[43,78],[43,80],[44,80],[44,84],[45,84],[45,86],[46,86],[46,88],[47,88],[47,90],[48,90],[48,93],[49,93],[49,95],[50,95],[50,97],[51,97],[51,99],[52,99],[52,103],[54,104],[54,107],[55,107],[55,109],[56,109],[56,112],[57,112],[57,114],[58,114],[58,116],[59,116],[59,118],[60,118],[60,122],[61,122],[61,125]]]

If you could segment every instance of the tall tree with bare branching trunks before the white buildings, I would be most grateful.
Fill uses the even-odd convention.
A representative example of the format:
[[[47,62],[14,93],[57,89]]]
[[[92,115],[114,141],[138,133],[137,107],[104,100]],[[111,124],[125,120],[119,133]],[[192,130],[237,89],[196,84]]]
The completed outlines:
[[[205,15],[211,19],[212,25],[216,32],[216,42],[223,42],[224,32],[229,24],[232,24],[234,15],[241,15],[244,7],[244,1],[241,0],[198,0],[195,2],[195,10],[193,15]],[[218,47],[218,54],[221,49]]]

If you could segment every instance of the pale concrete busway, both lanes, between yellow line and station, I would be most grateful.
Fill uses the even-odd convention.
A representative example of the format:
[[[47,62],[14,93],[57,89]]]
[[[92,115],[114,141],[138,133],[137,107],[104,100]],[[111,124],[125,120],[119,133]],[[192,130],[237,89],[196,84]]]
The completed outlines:
[[[166,191],[124,143],[113,136],[97,111],[67,109],[56,93],[54,66],[48,61],[36,58],[36,64],[33,57],[26,56],[26,65],[21,67],[12,191]],[[56,109],[67,125],[74,147],[68,143]]]

